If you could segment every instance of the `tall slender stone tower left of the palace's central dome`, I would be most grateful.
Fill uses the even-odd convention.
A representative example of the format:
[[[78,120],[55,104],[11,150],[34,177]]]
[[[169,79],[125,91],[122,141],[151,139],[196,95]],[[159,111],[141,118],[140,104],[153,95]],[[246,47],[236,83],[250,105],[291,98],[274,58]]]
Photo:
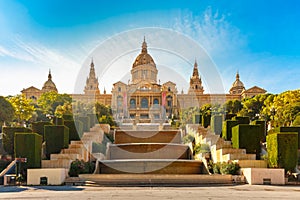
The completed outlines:
[[[93,60],[90,64],[90,73],[88,78],[86,79],[86,85],[84,87],[84,94],[86,95],[99,95],[99,82],[98,78],[96,78],[95,66]]]

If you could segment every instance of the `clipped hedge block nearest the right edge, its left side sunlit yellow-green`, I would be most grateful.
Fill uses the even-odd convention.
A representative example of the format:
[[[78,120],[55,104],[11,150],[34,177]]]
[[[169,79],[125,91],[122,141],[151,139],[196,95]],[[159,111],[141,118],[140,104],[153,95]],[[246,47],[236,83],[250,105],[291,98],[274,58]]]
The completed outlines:
[[[297,165],[298,134],[281,132],[267,135],[268,164],[273,168],[294,171]]]

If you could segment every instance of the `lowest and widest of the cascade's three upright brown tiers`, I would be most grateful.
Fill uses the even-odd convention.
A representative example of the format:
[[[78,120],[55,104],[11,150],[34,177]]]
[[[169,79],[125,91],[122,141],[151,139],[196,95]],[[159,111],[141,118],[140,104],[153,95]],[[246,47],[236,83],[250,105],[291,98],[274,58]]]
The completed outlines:
[[[96,174],[204,174],[202,161],[174,159],[101,160]]]

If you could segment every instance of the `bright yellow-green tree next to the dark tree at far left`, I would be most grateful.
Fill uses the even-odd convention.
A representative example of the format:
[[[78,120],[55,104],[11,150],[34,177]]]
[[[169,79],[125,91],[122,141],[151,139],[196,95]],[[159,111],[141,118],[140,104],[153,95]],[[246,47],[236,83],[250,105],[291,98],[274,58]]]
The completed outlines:
[[[8,101],[14,108],[15,119],[18,123],[24,123],[24,121],[27,121],[32,117],[35,108],[32,102],[26,99],[24,95],[9,97]]]

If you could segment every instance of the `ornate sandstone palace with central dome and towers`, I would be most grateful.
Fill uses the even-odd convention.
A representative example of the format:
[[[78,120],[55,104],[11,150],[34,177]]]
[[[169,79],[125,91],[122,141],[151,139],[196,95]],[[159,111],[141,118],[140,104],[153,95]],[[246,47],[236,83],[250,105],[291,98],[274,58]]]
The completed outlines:
[[[180,109],[192,106],[201,106],[207,103],[224,103],[227,100],[242,100],[257,94],[266,93],[266,90],[254,86],[250,89],[244,87],[239,73],[232,84],[228,94],[206,94],[199,75],[198,64],[195,61],[190,86],[185,94],[177,91],[176,83],[168,81],[157,82],[158,69],[155,61],[149,54],[147,43],[142,43],[140,54],[136,57],[131,68],[131,80],[128,84],[118,81],[113,84],[111,94],[105,89],[103,94],[99,90],[96,77],[95,64],[90,64],[90,72],[86,80],[83,94],[71,94],[74,100],[83,102],[99,102],[110,105],[116,119],[138,119],[140,122],[153,122],[177,115]],[[37,100],[41,94],[56,91],[49,71],[48,80],[41,90],[35,87],[23,89],[21,92],[26,98]]]

